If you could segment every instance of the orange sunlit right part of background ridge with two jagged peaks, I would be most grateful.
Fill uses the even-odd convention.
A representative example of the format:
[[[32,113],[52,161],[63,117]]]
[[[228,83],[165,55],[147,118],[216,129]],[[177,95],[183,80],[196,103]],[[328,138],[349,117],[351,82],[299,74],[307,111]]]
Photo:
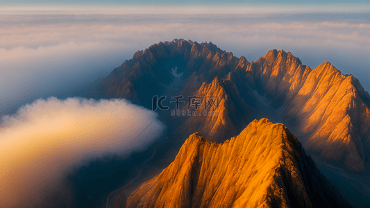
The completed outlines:
[[[251,88],[283,110],[282,121],[294,129],[305,148],[364,170],[370,150],[370,96],[353,76],[325,62],[315,69],[291,53],[271,50],[246,68]],[[235,76],[231,76],[235,80]]]

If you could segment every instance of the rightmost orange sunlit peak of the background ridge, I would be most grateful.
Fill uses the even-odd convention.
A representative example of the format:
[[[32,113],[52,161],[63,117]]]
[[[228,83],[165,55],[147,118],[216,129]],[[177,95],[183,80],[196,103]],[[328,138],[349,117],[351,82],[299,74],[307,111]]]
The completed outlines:
[[[356,86],[357,85],[357,86]],[[305,148],[321,157],[362,171],[369,159],[370,114],[364,90],[353,76],[344,76],[328,62],[313,69],[287,105],[288,118],[300,118]]]

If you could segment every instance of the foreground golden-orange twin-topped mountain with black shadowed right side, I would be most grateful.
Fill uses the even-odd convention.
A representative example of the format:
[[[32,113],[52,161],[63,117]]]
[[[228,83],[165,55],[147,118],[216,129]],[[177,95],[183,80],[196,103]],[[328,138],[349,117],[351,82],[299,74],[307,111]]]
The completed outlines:
[[[283,124],[253,121],[224,144],[198,133],[127,207],[351,207]]]

